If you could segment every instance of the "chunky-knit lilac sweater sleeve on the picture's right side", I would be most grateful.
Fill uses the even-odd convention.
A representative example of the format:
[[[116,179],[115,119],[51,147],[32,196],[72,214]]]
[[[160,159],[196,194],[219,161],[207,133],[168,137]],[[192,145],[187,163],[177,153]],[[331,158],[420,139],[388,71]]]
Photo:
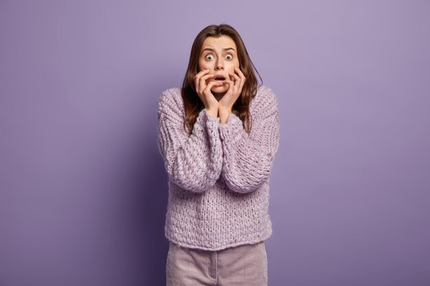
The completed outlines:
[[[269,178],[279,145],[278,102],[265,86],[253,99],[251,132],[234,113],[220,124],[223,146],[222,174],[227,186],[238,193],[255,191]]]

